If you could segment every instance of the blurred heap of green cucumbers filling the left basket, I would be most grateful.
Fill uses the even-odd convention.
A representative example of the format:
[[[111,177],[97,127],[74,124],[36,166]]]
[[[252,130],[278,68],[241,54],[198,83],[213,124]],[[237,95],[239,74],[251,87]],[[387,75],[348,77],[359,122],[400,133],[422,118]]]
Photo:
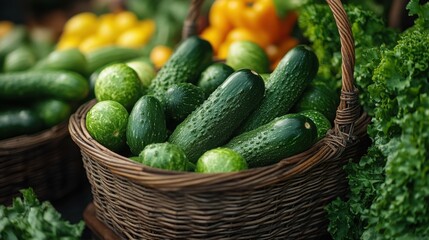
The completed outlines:
[[[41,55],[35,47],[40,44],[34,44],[24,26],[15,26],[1,39],[0,139],[64,122],[88,96],[83,53],[68,49]]]

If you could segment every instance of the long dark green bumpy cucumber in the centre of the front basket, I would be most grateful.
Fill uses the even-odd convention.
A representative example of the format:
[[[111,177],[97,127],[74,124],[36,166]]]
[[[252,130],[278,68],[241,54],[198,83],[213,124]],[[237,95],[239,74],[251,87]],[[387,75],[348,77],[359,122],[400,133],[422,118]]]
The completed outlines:
[[[195,163],[207,150],[226,143],[264,95],[264,82],[256,72],[242,69],[231,74],[169,137]]]

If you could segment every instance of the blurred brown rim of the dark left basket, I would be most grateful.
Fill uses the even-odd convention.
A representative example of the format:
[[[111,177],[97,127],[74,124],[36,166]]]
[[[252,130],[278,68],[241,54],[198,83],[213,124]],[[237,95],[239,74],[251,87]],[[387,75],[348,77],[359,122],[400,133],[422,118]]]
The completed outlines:
[[[33,134],[24,134],[0,140],[0,151],[12,149],[32,148],[43,145],[49,141],[62,139],[69,135],[68,121],[63,121],[51,128]]]

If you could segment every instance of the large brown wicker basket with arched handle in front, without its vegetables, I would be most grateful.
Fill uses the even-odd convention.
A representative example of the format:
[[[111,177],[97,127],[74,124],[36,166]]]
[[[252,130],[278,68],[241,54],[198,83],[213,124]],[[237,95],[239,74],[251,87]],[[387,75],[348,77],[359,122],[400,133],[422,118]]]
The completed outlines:
[[[201,2],[192,1],[184,31],[195,28]],[[267,167],[220,174],[165,171],[130,161],[92,139],[85,116],[93,100],[70,118],[69,130],[82,152],[97,218],[124,239],[325,235],[324,207],[347,190],[343,165],[364,150],[369,122],[354,86],[350,24],[340,0],[328,4],[340,32],[343,79],[335,125],[325,138],[308,151]]]

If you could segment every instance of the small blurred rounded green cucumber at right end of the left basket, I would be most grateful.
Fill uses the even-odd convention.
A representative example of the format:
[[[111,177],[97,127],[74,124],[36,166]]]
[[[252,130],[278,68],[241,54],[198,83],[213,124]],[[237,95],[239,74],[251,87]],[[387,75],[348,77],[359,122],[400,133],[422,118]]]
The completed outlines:
[[[66,121],[72,113],[72,107],[68,102],[57,99],[43,99],[36,102],[33,107],[42,119],[44,128]]]

